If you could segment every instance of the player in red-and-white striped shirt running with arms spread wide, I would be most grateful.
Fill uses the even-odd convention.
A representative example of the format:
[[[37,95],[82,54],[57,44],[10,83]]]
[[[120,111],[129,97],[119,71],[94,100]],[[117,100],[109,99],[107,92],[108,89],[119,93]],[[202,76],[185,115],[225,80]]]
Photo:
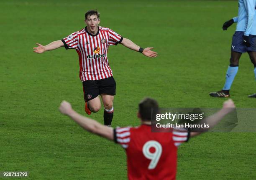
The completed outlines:
[[[54,50],[59,47],[75,49],[79,56],[80,80],[84,90],[85,112],[100,110],[100,97],[104,105],[104,124],[111,125],[114,113],[113,100],[115,95],[115,80],[110,69],[107,52],[110,45],[119,43],[125,47],[141,52],[147,57],[156,57],[157,53],[151,51],[153,47],[145,49],[134,44],[110,28],[98,26],[100,24],[100,14],[97,10],[89,10],[85,13],[86,27],[80,31],[73,32],[62,40],[51,42],[43,46],[38,44],[34,47],[34,52]]]

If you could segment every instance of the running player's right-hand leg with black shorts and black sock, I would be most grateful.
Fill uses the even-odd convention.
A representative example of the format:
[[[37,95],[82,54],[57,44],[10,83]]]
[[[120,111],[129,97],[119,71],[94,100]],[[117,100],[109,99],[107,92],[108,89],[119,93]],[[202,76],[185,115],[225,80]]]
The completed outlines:
[[[113,76],[100,80],[99,90],[104,105],[104,124],[111,125],[114,116],[113,100],[115,95],[115,80]]]

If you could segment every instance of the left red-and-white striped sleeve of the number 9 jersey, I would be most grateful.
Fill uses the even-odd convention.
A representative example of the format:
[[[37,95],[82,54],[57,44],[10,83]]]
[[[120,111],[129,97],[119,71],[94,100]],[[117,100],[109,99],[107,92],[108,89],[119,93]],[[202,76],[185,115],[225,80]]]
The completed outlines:
[[[115,143],[120,144],[124,149],[128,148],[130,140],[131,140],[131,127],[125,128],[115,128],[114,129],[114,141]]]

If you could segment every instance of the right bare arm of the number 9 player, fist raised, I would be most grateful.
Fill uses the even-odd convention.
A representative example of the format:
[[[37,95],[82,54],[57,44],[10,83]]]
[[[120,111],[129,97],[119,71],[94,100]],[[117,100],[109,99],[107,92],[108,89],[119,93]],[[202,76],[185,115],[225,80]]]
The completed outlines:
[[[225,117],[225,115],[227,115],[228,113],[235,110],[235,108],[236,108],[236,106],[235,106],[233,100],[231,100],[231,99],[226,100],[223,103],[223,108],[221,110],[219,110],[218,112],[216,112],[215,114],[213,114],[209,117],[206,117],[204,120],[202,120],[201,123],[208,124],[210,128],[213,128],[215,125],[218,124],[218,122],[220,122],[220,120],[222,120],[223,117]],[[190,137],[194,137],[199,134],[200,133],[190,133]]]

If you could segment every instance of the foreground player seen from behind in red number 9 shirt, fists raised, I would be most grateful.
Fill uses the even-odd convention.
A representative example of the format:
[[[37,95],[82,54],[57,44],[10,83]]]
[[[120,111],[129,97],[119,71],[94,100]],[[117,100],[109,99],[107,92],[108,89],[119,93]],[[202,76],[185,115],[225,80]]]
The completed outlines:
[[[177,171],[177,146],[200,133],[174,129],[172,133],[151,133],[151,108],[158,112],[156,100],[146,98],[139,104],[138,118],[141,126],[116,128],[75,112],[69,102],[63,101],[61,113],[68,115],[85,130],[119,143],[126,150],[128,178],[132,180],[174,180]],[[205,118],[205,123],[214,127],[225,115],[234,110],[232,100],[223,103],[223,108]]]

